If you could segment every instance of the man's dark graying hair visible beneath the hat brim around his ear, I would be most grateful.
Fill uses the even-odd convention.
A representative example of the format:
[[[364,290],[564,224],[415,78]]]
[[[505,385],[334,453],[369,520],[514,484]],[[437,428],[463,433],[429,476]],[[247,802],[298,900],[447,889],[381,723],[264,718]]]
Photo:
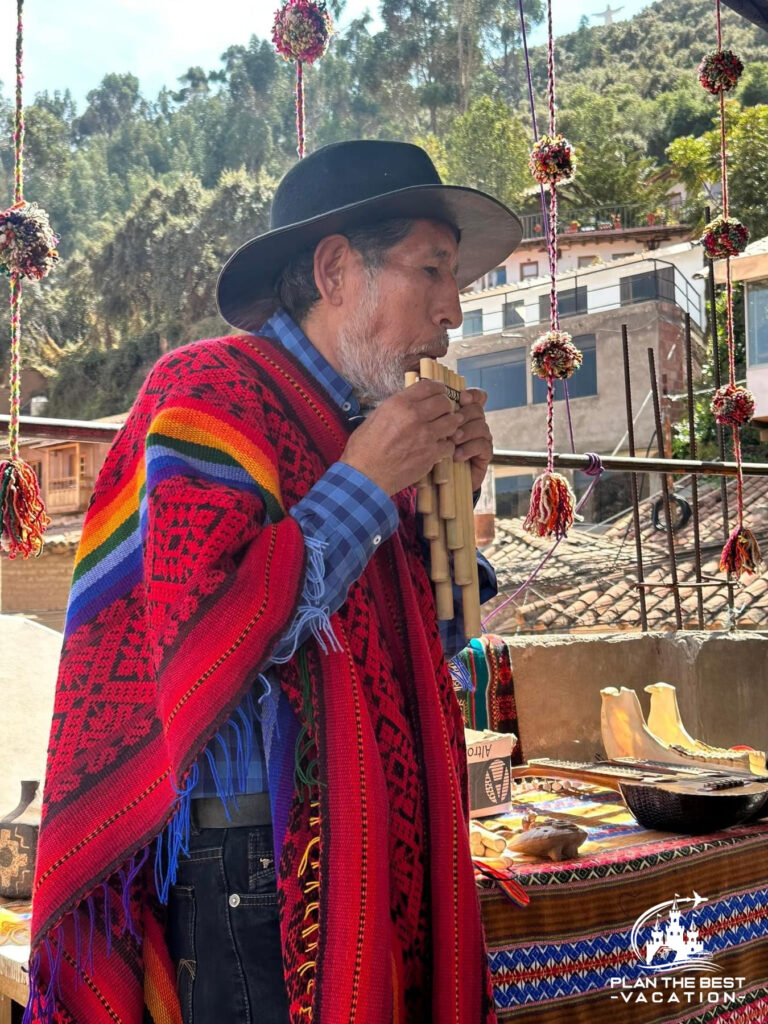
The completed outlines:
[[[390,249],[402,242],[413,226],[413,220],[398,218],[379,224],[365,224],[349,231],[342,231],[349,245],[362,257],[367,270],[380,270]],[[299,325],[302,324],[321,294],[314,284],[314,250],[304,249],[295,256],[278,278],[274,292],[286,312]]]

